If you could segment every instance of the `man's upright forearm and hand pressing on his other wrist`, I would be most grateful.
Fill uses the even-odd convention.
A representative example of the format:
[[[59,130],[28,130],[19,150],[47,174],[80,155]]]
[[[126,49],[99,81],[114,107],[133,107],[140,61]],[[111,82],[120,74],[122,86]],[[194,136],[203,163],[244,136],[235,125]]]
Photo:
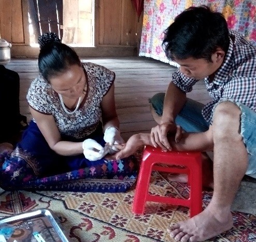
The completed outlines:
[[[175,118],[186,103],[186,93],[182,92],[173,82],[170,82],[164,97],[163,116],[160,123],[151,130],[152,146],[160,146],[163,150],[171,150],[167,133],[175,134],[176,140],[181,136],[181,129],[177,129]]]

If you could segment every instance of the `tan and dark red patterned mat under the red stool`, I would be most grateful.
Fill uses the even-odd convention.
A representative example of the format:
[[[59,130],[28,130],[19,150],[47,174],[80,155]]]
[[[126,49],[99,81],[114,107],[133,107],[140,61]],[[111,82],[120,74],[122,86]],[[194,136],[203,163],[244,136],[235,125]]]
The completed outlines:
[[[0,190],[0,217],[49,208],[59,217],[71,241],[174,241],[166,232],[166,227],[170,223],[188,219],[188,209],[149,202],[145,215],[134,215],[134,189],[126,193]],[[184,183],[169,182],[165,173],[153,172],[150,192],[188,198],[189,188]],[[204,191],[203,195],[206,207],[212,192]],[[256,241],[256,216],[241,212],[234,212],[233,215],[233,229],[207,241]]]

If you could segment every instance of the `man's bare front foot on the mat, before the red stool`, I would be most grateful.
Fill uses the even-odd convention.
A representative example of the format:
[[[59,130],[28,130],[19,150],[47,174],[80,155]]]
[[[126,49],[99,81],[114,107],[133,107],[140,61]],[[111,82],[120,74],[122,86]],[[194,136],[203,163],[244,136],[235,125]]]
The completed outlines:
[[[233,218],[229,209],[210,209],[193,218],[169,226],[170,237],[181,242],[205,241],[233,227]]]

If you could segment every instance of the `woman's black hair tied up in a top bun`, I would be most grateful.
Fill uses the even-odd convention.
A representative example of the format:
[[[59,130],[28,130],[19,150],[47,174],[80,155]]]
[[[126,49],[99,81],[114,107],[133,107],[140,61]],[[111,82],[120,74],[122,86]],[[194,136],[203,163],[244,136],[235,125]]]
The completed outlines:
[[[81,65],[77,53],[69,46],[62,44],[55,33],[39,36],[38,43],[39,72],[48,82],[50,77],[58,75],[70,65]]]

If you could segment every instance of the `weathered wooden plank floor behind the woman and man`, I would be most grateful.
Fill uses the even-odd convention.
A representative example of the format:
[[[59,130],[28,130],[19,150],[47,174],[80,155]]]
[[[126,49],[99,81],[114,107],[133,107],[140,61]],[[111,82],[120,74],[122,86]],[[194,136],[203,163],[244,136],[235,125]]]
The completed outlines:
[[[143,57],[89,58],[82,61],[103,65],[116,73],[116,107],[123,138],[150,132],[156,123],[150,115],[148,98],[166,91],[176,67]],[[38,76],[37,59],[12,59],[5,67],[19,73],[20,111],[31,120],[26,93],[31,81]],[[210,100],[203,81],[196,83],[187,96],[204,104]]]

